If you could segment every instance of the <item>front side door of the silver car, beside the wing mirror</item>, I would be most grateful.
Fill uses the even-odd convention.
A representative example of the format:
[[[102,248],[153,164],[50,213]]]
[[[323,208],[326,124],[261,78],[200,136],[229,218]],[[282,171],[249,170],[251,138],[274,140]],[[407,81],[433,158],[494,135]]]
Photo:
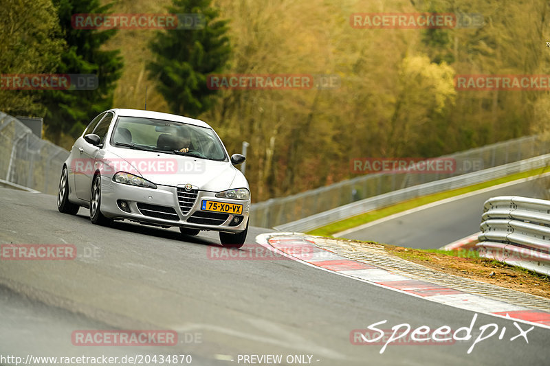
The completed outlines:
[[[104,144],[113,116],[112,112],[106,113],[91,132],[100,137],[102,144]],[[98,146],[89,144],[85,139],[82,139],[78,146],[80,161],[82,161],[80,165],[83,166],[83,170],[75,174],[75,190],[76,196],[85,201],[90,201],[91,198],[91,179],[94,178],[96,172],[96,157],[99,151]]]

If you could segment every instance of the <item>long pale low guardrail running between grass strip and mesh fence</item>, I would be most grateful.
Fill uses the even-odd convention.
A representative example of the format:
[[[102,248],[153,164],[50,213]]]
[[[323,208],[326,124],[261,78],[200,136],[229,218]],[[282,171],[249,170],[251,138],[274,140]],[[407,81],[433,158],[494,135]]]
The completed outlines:
[[[516,161],[515,163],[500,165],[496,168],[480,170],[479,172],[472,172],[448,179],[441,179],[439,181],[415,185],[414,187],[396,190],[395,192],[381,194],[380,196],[366,198],[362,201],[336,207],[335,209],[330,209],[320,214],[309,216],[294,222],[289,222],[284,225],[279,225],[275,227],[275,229],[281,231],[307,232],[312,229],[316,229],[317,227],[328,225],[331,222],[351,218],[352,216],[364,214],[365,212],[373,209],[394,205],[395,203],[406,201],[411,198],[417,198],[419,196],[426,196],[428,194],[454,190],[456,188],[466,187],[467,185],[491,181],[492,179],[498,179],[510,174],[542,168],[549,163],[550,154],[547,154],[541,155],[540,157]]]

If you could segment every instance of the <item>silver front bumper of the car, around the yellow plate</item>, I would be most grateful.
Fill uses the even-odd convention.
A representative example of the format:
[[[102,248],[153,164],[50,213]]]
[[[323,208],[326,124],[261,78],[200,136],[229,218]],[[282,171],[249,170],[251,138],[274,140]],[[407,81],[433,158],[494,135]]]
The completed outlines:
[[[202,191],[199,187],[193,187],[191,192],[184,190],[183,185],[157,185],[156,189],[136,187],[113,182],[107,176],[101,177],[101,185],[100,210],[104,216],[115,220],[125,219],[166,227],[240,233],[246,228],[250,214],[250,200],[218,198],[215,196],[217,192]],[[242,214],[204,211],[201,209],[201,203],[205,199],[243,205]],[[120,207],[121,201],[126,202],[129,212]]]

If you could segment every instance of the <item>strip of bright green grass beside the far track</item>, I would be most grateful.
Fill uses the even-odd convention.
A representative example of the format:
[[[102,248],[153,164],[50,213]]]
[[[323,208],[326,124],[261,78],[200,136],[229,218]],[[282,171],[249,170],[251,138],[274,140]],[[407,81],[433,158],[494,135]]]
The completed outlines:
[[[459,196],[461,194],[474,192],[477,190],[482,190],[483,188],[492,187],[494,185],[499,185],[502,183],[507,183],[511,181],[516,181],[518,179],[527,178],[529,176],[536,176],[538,174],[542,174],[547,170],[546,167],[538,168],[529,170],[527,172],[522,172],[518,174],[513,174],[509,176],[505,176],[503,178],[494,179],[492,181],[487,181],[483,183],[478,183],[474,185],[469,185],[467,187],[457,188],[456,190],[450,190],[435,194],[430,194],[428,196],[421,196],[417,198],[412,198],[408,201],[403,201],[401,203],[396,203],[395,205],[391,205],[388,207],[383,207],[381,209],[375,209],[373,211],[366,212],[364,214],[360,214],[358,216],[353,216],[351,218],[347,218],[345,220],[340,220],[338,222],[333,222],[329,225],[326,225],[324,227],[320,227],[318,229],[314,229],[313,231],[309,231],[308,234],[310,235],[316,235],[316,236],[327,236],[332,237],[334,233],[338,233],[340,231],[344,231],[347,229],[351,229],[352,227],[358,227],[359,225],[366,224],[367,222],[371,222],[374,220],[378,220],[380,218],[384,218],[386,216],[390,216],[393,214],[397,214],[402,211],[406,211],[408,209],[413,209],[415,207],[420,207],[423,205],[427,205],[428,203],[441,201],[445,198]]]

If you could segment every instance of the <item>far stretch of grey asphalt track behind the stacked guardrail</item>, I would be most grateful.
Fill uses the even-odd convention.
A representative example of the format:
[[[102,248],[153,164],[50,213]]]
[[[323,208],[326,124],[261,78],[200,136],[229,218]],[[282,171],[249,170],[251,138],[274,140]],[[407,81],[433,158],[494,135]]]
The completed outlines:
[[[421,209],[414,214],[340,235],[342,238],[371,240],[408,248],[438,249],[479,231],[483,203],[496,196],[525,196],[543,198],[536,180],[467,196],[456,201]]]

